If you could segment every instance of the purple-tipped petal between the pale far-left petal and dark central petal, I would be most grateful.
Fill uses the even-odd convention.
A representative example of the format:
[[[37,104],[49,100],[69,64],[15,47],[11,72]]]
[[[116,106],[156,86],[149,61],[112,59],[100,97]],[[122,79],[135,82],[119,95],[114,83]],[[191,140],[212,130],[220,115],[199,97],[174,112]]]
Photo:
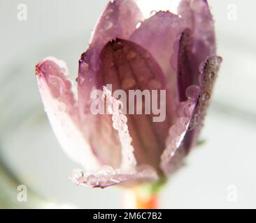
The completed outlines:
[[[97,49],[90,49],[83,54],[79,64],[78,74],[78,109],[83,126],[83,132],[87,135],[94,154],[101,164],[111,167],[120,167],[121,145],[118,132],[113,129],[110,115],[94,115],[90,106],[94,99],[91,98],[93,90],[102,90],[104,83],[98,75],[100,67],[99,53]],[[115,157],[113,159],[113,157]]]

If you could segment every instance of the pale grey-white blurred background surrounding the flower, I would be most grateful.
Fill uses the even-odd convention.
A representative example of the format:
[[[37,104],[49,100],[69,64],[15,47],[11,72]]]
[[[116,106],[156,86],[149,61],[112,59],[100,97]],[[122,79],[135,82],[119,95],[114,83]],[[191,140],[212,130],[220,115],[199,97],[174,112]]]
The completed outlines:
[[[118,187],[92,190],[69,180],[78,165],[57,143],[34,75],[38,61],[56,56],[75,79],[106,2],[0,0],[0,208],[121,207]],[[161,208],[256,208],[256,1],[208,2],[224,62],[204,144],[169,180]],[[22,6],[27,20],[20,21]],[[27,201],[19,194],[26,189]]]

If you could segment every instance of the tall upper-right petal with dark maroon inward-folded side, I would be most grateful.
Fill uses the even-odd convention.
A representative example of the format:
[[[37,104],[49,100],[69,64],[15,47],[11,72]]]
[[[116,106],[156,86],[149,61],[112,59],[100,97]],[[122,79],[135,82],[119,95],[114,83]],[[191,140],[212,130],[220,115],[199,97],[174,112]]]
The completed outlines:
[[[180,101],[186,100],[185,91],[199,85],[199,66],[208,56],[216,54],[213,17],[204,0],[183,0],[178,11],[187,28],[178,42],[176,54],[171,63],[176,68]]]

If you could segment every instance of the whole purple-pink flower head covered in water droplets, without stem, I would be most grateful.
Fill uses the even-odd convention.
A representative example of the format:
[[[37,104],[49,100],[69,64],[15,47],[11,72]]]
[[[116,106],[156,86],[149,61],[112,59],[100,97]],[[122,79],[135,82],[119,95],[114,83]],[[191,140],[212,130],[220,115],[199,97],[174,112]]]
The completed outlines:
[[[197,144],[221,61],[206,0],[182,0],[177,15],[158,11],[148,18],[132,0],[109,2],[79,61],[78,100],[63,61],[48,57],[36,66],[59,143],[86,170],[73,171],[73,182],[134,185],[176,171]],[[124,114],[108,84],[113,91],[164,90],[166,118]],[[95,89],[103,90],[111,114],[90,111]]]

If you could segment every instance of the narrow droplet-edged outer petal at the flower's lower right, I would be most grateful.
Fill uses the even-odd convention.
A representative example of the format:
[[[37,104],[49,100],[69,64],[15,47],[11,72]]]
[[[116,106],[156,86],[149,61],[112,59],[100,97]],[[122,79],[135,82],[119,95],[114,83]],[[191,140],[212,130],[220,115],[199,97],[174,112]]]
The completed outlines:
[[[185,107],[189,106],[189,109],[185,109],[185,118],[180,118],[180,121],[171,128],[169,141],[166,141],[166,150],[162,154],[160,165],[166,175],[172,174],[180,167],[183,157],[197,143],[221,61],[219,56],[211,56],[206,60],[199,77],[200,87],[190,88],[190,91],[198,96],[192,97],[192,103],[190,99],[183,102]]]

